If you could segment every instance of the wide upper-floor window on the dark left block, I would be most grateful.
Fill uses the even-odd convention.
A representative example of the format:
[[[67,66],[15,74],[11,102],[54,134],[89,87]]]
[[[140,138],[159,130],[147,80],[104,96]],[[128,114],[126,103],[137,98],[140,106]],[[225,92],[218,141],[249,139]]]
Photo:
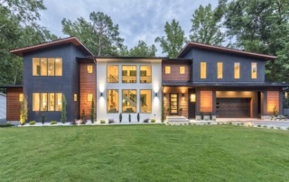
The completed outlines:
[[[62,59],[33,58],[33,76],[62,76]]]

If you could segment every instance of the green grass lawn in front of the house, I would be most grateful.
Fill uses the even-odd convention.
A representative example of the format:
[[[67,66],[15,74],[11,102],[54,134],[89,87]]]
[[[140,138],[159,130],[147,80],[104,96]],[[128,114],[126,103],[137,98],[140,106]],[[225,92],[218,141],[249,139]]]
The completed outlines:
[[[1,181],[288,181],[289,132],[232,125],[0,128]]]

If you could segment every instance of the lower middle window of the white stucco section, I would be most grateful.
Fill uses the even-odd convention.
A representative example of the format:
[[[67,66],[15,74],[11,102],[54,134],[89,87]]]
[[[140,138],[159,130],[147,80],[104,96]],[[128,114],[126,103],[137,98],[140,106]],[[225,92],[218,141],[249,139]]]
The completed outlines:
[[[136,90],[123,90],[123,113],[136,113]]]

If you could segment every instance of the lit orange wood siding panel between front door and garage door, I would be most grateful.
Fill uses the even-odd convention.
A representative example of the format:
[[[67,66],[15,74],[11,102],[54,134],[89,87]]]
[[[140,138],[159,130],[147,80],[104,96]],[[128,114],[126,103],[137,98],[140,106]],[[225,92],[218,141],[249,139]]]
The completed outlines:
[[[212,112],[213,93],[212,91],[200,91],[200,112]]]

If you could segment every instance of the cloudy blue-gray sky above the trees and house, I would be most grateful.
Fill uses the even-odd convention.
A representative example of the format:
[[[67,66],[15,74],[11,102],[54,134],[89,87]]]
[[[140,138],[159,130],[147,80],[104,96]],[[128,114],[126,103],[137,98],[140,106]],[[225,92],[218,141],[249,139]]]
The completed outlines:
[[[102,12],[118,24],[119,35],[128,49],[144,41],[156,46],[157,56],[164,56],[159,44],[154,43],[157,36],[165,35],[164,24],[176,19],[189,37],[192,14],[200,5],[209,4],[215,8],[218,0],[44,0],[47,9],[40,12],[39,23],[65,38],[69,35],[62,33],[63,18],[74,22],[83,17],[89,21],[91,12]]]

